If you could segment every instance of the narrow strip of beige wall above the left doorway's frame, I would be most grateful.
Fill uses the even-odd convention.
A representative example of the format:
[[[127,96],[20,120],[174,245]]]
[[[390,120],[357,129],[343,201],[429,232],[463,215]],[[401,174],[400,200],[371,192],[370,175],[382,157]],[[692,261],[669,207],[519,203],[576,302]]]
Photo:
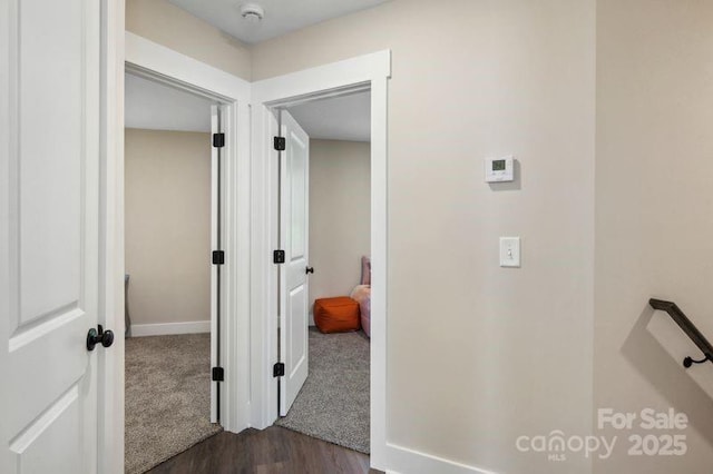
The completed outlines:
[[[167,0],[126,0],[126,29],[234,76],[251,79],[250,50]]]

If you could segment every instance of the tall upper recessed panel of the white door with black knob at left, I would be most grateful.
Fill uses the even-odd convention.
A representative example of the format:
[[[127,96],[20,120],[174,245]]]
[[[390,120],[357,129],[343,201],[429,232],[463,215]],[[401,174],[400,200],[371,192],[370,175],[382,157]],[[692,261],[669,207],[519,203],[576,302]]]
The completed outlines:
[[[85,8],[22,0],[18,11],[21,324],[79,300]],[[76,152],[50,159],[58,150]]]

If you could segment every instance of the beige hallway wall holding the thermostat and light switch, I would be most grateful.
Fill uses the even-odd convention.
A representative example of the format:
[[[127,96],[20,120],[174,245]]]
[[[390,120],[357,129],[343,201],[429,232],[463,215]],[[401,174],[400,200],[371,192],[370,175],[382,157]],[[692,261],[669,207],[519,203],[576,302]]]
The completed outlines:
[[[519,435],[588,433],[594,1],[394,0],[257,45],[266,78],[385,48],[388,441],[504,473],[585,473]],[[482,181],[515,154],[519,190]],[[522,238],[522,268],[498,238]]]

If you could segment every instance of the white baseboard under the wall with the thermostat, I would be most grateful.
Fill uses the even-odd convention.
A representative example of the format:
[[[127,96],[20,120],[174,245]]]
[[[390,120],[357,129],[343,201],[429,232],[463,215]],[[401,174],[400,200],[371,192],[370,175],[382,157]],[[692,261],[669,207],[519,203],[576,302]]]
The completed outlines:
[[[497,474],[390,443],[387,444],[387,460],[388,474]]]

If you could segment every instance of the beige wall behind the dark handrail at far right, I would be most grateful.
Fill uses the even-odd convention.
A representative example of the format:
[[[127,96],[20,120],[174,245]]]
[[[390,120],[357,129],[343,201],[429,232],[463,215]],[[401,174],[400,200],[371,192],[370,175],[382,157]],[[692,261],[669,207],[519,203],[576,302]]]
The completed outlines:
[[[597,473],[713,465],[713,402],[646,330],[654,296],[713,336],[712,24],[707,1],[598,1],[595,406],[674,407],[692,426],[684,457],[622,450]]]

